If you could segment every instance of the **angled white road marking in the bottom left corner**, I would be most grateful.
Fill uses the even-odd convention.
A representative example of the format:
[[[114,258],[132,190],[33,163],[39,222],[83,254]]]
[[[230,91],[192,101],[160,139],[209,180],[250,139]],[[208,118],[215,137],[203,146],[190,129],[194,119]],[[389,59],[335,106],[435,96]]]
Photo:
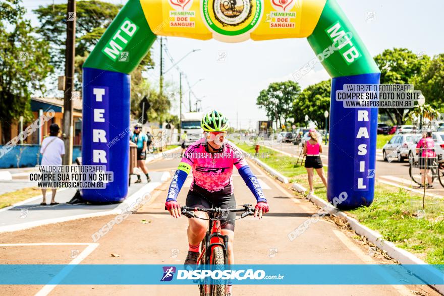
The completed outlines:
[[[87,246],[76,258],[74,258],[68,265],[77,265],[82,262],[83,259],[88,257],[98,246],[97,243],[29,243],[29,244],[0,244],[1,247],[12,246]],[[57,275],[55,275],[50,282],[60,282],[64,279],[68,273],[74,268],[74,266],[64,267]],[[57,284],[46,284],[38,291],[35,296],[46,296],[49,294]]]

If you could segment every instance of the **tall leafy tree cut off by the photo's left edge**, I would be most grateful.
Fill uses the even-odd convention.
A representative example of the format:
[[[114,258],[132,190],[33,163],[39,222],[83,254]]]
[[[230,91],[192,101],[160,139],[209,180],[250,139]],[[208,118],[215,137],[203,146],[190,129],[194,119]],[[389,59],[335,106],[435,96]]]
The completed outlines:
[[[31,93],[46,91],[49,65],[48,42],[36,37],[20,0],[0,3],[0,121],[3,143],[11,138],[11,124],[19,116],[32,120]]]

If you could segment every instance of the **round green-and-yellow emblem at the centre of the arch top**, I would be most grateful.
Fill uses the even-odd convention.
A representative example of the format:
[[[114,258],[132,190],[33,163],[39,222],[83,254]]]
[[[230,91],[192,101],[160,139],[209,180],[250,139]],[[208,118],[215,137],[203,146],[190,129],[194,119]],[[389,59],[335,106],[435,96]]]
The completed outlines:
[[[211,31],[238,36],[256,27],[262,6],[262,0],[203,0],[202,15]]]

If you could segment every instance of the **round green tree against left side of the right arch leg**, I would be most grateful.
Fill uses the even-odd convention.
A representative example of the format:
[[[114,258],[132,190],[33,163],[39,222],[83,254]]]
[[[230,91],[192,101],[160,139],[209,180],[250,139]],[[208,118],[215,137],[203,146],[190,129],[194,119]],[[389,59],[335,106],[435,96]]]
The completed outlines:
[[[305,126],[305,115],[320,129],[325,129],[324,112],[330,109],[331,80],[305,88],[293,102],[295,123]]]

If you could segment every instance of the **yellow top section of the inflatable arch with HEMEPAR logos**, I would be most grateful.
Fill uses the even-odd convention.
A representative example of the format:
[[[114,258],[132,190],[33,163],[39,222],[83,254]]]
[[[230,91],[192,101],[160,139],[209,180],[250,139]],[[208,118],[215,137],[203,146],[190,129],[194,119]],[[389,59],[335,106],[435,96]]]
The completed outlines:
[[[308,37],[326,0],[140,0],[161,36],[224,42]]]

